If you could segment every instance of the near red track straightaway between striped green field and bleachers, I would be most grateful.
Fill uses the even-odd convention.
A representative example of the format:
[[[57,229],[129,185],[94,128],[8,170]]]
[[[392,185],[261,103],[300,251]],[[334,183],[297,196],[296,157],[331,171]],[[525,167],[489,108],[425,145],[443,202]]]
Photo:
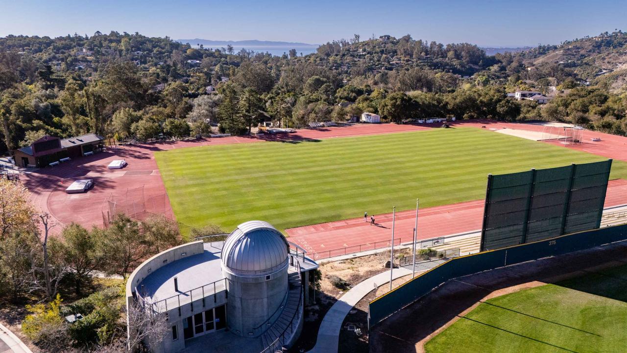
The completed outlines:
[[[627,180],[610,180],[605,207],[627,204]],[[481,229],[483,200],[428,207],[418,211],[418,237],[433,237],[472,232]],[[338,220],[323,224],[286,229],[295,242],[314,258],[329,258],[357,251],[389,246],[392,237],[392,214],[374,215],[376,225],[363,218]],[[416,210],[396,212],[394,244],[411,242]]]

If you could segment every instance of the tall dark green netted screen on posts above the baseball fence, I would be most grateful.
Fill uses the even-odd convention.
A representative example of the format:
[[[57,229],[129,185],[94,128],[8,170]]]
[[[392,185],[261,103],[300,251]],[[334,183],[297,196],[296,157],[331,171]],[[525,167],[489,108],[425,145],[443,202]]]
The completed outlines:
[[[481,251],[596,229],[612,160],[488,175]]]

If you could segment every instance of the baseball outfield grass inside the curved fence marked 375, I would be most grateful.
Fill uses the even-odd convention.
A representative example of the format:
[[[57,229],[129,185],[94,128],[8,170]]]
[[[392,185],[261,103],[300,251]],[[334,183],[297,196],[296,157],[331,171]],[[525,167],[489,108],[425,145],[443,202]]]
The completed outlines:
[[[627,265],[492,298],[427,353],[627,352]]]

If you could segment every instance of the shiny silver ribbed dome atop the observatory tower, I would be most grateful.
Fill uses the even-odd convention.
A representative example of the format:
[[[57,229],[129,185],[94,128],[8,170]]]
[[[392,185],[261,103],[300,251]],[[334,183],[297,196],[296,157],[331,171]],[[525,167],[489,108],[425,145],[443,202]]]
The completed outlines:
[[[222,247],[222,268],[236,276],[265,276],[288,264],[288,243],[268,222],[250,220],[229,234]]]

